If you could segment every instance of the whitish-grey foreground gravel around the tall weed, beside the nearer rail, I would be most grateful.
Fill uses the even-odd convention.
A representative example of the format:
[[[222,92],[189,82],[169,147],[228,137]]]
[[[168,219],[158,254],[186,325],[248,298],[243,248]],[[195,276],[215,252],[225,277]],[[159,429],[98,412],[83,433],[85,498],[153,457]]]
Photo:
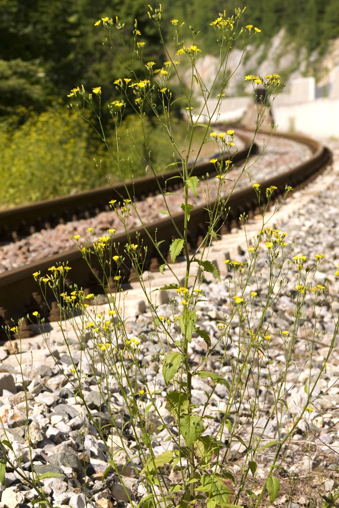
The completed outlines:
[[[322,174],[309,184],[307,188],[295,193],[294,198],[291,198],[289,203],[278,212],[272,227],[288,232],[287,238],[293,256],[307,256],[314,263],[315,254],[324,253],[326,255],[326,258],[320,263],[314,284],[325,287],[327,281],[330,283],[330,291],[334,297],[332,309],[333,313],[337,315],[339,312],[337,297],[339,277],[335,275],[335,271],[337,269],[336,263],[339,261],[339,220],[336,210],[339,194],[339,143],[334,141],[328,141],[328,143],[334,150],[332,167],[327,170],[327,173]],[[254,236],[254,232],[258,229],[257,223],[249,221],[249,236]],[[236,258],[239,262],[248,261],[249,255],[245,249],[238,248],[240,243],[236,244],[236,248],[235,245],[230,244],[231,238],[234,240],[240,235],[240,233],[234,232],[230,237],[223,238],[211,250],[211,259],[212,257],[217,258],[218,253],[221,256],[232,251],[234,253],[234,256],[231,256],[232,259]],[[294,242],[297,242],[298,246],[294,246]],[[265,248],[267,249],[265,245],[261,245],[261,252],[265,252]],[[258,261],[258,273],[261,274],[260,284],[258,279],[252,278],[249,280],[249,289],[263,294],[269,278],[265,258],[260,258]],[[193,403],[197,406],[196,410],[199,411],[201,405],[209,400],[207,414],[211,418],[208,430],[212,433],[217,432],[219,418],[226,414],[226,411],[230,411],[229,418],[233,422],[235,411],[238,410],[240,437],[245,443],[252,433],[253,423],[255,425],[253,433],[256,438],[259,438],[264,432],[265,443],[277,439],[279,422],[277,423],[276,419],[269,420],[267,415],[274,403],[270,384],[281,377],[281,369],[286,358],[286,349],[284,350],[284,342],[279,332],[291,331],[294,321],[294,307],[291,305],[291,299],[295,298],[296,290],[293,282],[294,275],[292,275],[292,271],[290,271],[283,296],[279,300],[279,305],[277,304],[274,324],[270,325],[269,345],[262,350],[264,353],[263,363],[260,369],[257,364],[253,365],[251,371],[253,383],[249,385],[248,393],[240,407],[236,406],[238,407],[236,409],[234,405],[231,410],[227,407],[229,393],[226,385],[215,386],[211,378],[194,376]],[[229,280],[229,272],[226,271],[221,283],[212,277],[209,281],[202,282],[201,289],[206,296],[197,303],[195,308],[197,325],[200,329],[208,332],[212,345],[217,345],[216,354],[208,358],[205,368],[222,375],[224,379],[228,379],[232,365],[236,362],[241,368],[246,368],[243,353],[239,351],[239,337],[242,337],[239,320],[232,322],[227,343],[220,340],[225,318],[227,321],[231,305],[234,304],[234,292],[229,287]],[[259,287],[257,287],[258,284]],[[249,290],[244,295],[246,298],[250,298]],[[171,298],[177,297],[175,292],[170,293],[169,296]],[[99,310],[108,312],[108,308],[105,306],[98,308],[96,312]],[[317,321],[315,312],[319,312]],[[171,313],[169,303],[163,303],[158,308],[159,315],[171,316]],[[81,343],[77,342],[75,336],[71,335],[70,323],[63,323],[63,334],[53,328],[54,325],[51,325],[49,345],[53,351],[58,353],[55,355],[57,364],[52,362],[49,365],[45,364],[44,358],[47,358],[48,349],[40,336],[22,340],[22,347],[25,350],[23,353],[30,352],[33,358],[33,365],[26,364],[23,374],[18,363],[14,362],[14,355],[8,355],[8,350],[6,352],[3,348],[3,352],[5,352],[1,365],[3,375],[0,376],[2,389],[0,418],[3,428],[0,430],[2,440],[8,439],[12,443],[12,449],[8,448],[7,450],[10,462],[7,464],[5,486],[1,491],[3,506],[9,508],[16,508],[19,505],[29,506],[37,498],[36,492],[23,482],[16,472],[19,465],[27,475],[27,479],[32,478],[34,474],[45,475],[45,478],[41,478],[41,483],[52,506],[79,508],[86,506],[87,500],[89,508],[97,506],[111,508],[112,506],[122,506],[130,499],[138,503],[145,495],[145,488],[140,482],[142,463],[135,441],[136,437],[141,435],[140,422],[137,422],[133,427],[130,407],[126,406],[123,394],[131,394],[132,403],[138,404],[140,408],[146,410],[150,399],[145,388],[148,386],[156,390],[159,397],[157,412],[149,410],[145,422],[148,432],[153,433],[153,450],[156,455],[175,448],[171,440],[168,440],[169,430],[163,427],[162,422],[169,426],[171,433],[175,436],[178,434],[178,427],[169,415],[164,400],[168,388],[161,376],[161,367],[158,362],[162,348],[152,335],[154,326],[152,314],[146,308],[146,312],[143,314],[131,313],[126,317],[128,319],[125,322],[125,329],[129,337],[128,340],[135,337],[140,338],[138,349],[140,370],[139,374],[135,376],[136,388],[132,392],[129,388],[132,376],[123,378],[124,388],[120,390],[112,374],[112,366],[117,361],[114,352],[107,353],[109,350],[105,352],[112,362],[112,369],[108,369],[104,375],[100,371],[100,358],[103,358],[100,355],[103,353],[99,348],[94,347],[96,341],[92,342],[87,337]],[[257,326],[259,317],[259,301],[254,298],[250,316],[253,327]],[[332,312],[328,305],[307,305],[300,319],[302,327],[294,346],[294,364],[286,373],[286,383],[282,395],[284,398],[282,411],[286,407],[285,403],[289,408],[289,411],[283,414],[280,428],[282,434],[293,427],[297,411],[307,400],[304,386],[308,379],[315,379],[323,369],[328,353],[328,344],[335,332]],[[314,347],[314,336],[312,335],[315,324],[321,336],[316,347]],[[69,334],[67,334],[69,340],[65,344],[63,335],[65,335],[67,327],[70,327]],[[326,334],[323,333],[325,330],[327,330]],[[173,340],[179,340],[179,338],[178,332],[174,331]],[[246,340],[244,337],[242,340],[245,347]],[[305,365],[306,345],[310,348],[314,347],[312,365]],[[40,352],[39,355],[35,355],[35,348]],[[167,346],[165,349],[167,351]],[[207,351],[207,343],[196,333],[193,333],[192,341],[189,344],[192,368],[201,364]],[[74,372],[71,371],[73,365],[71,366],[69,362],[70,354],[74,358],[76,369],[79,369],[79,372],[85,365],[80,387],[77,386],[77,379]],[[126,360],[128,359],[126,358]],[[93,369],[87,369],[86,361],[88,365],[93,364],[94,370],[100,372],[100,375]],[[314,492],[318,491],[320,482],[320,469],[317,468],[321,468],[322,474],[324,470],[333,472],[331,469],[331,466],[335,467],[333,454],[339,447],[338,365],[339,354],[333,348],[330,358],[326,360],[326,371],[322,373],[319,386],[314,392],[314,396],[318,397],[316,404],[299,421],[290,451],[286,453],[284,462],[286,470],[292,471],[300,478],[304,478],[310,467],[313,467],[311,484]],[[143,379],[140,377],[140,371],[144,373]],[[103,395],[99,395],[98,385],[101,387]],[[80,389],[84,402],[79,396]],[[206,394],[211,393],[211,389],[213,389],[213,395],[208,399]],[[238,404],[238,392],[235,391],[233,394],[234,404]],[[324,395],[322,396],[322,394]],[[251,401],[255,398],[257,409],[253,413],[253,419],[250,419]],[[85,404],[87,404],[89,412],[86,412]],[[107,404],[110,404],[110,411],[107,409]],[[101,429],[100,433],[96,430],[94,423]],[[232,439],[229,446],[224,444],[228,443],[229,437],[229,431],[225,428],[221,436],[222,451],[223,453],[227,451],[229,467],[240,470],[245,465],[248,450],[242,442],[236,439]],[[145,436],[144,438],[147,439]],[[309,441],[312,443],[310,446],[314,446],[317,450],[318,455],[313,456],[312,461],[304,453],[303,446],[306,438],[308,443]],[[29,441],[32,443],[31,451],[28,449]],[[264,453],[257,457],[259,483],[266,478],[267,464],[272,458],[271,452],[268,447]],[[109,453],[114,454],[117,468],[116,472],[111,469],[105,475]],[[143,453],[148,453],[146,448]],[[169,478],[169,481],[180,481],[178,471],[171,471],[170,467],[166,469],[165,466],[162,472],[166,479]],[[328,475],[330,476],[332,472]],[[50,477],[51,474],[56,476]],[[121,485],[121,479],[123,479],[125,487]],[[284,475],[282,475],[281,481],[285,481]],[[321,488],[322,491],[329,492],[334,483],[330,483],[330,478],[327,478],[326,481],[326,485],[324,483]],[[302,483],[299,487],[300,494],[296,494],[295,503],[298,503],[300,508],[308,503],[309,498],[302,494],[302,488],[304,488]],[[287,498],[284,501],[284,497],[281,495],[280,499],[280,504],[286,505]]]

